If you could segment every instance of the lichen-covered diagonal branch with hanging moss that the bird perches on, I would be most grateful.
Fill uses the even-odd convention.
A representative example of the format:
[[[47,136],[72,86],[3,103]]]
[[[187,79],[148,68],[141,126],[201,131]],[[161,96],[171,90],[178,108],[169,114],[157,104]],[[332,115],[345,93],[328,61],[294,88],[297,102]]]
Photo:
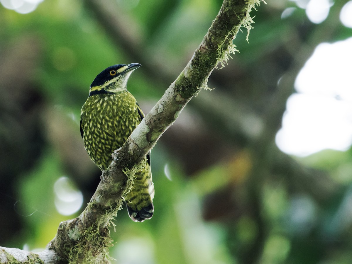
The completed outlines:
[[[208,33],[177,79],[165,91],[155,107],[114,154],[86,209],[75,219],[59,225],[56,237],[41,254],[31,253],[44,263],[109,263],[108,247],[112,245],[108,227],[122,205],[122,195],[131,188],[133,173],[160,136],[178,117],[181,110],[202,88],[210,73],[234,52],[232,40],[241,27],[251,28],[250,12],[262,0],[224,0]],[[14,250],[15,252],[22,252]],[[3,256],[15,258],[10,249],[0,248]],[[50,256],[45,258],[45,256]],[[5,259],[6,261],[6,259]]]

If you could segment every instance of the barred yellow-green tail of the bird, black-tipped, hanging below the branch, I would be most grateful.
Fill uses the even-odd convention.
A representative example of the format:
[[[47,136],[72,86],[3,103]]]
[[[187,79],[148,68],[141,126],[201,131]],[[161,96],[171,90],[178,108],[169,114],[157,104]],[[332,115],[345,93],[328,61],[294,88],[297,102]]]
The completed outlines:
[[[132,190],[126,195],[128,215],[135,222],[143,222],[153,216],[154,185],[150,166],[135,174]]]

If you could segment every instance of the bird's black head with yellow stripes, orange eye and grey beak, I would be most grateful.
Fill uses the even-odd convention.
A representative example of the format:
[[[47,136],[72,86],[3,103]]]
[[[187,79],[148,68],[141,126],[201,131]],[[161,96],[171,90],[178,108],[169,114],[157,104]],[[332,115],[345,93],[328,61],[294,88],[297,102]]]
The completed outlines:
[[[139,66],[139,63],[131,63],[107,67],[95,77],[89,88],[90,94],[92,94],[92,92],[96,94],[100,91],[116,93],[126,90],[128,77],[130,77],[133,70],[136,70]]]

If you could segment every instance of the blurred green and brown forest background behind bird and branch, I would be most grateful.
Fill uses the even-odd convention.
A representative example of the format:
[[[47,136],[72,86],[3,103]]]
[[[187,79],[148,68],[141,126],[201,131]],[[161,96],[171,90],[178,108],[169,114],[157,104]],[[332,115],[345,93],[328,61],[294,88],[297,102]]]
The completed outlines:
[[[148,112],[220,0],[0,0],[0,245],[38,250],[99,182],[80,109],[142,64]],[[116,217],[113,263],[351,263],[352,1],[267,0],[152,150],[155,214]]]

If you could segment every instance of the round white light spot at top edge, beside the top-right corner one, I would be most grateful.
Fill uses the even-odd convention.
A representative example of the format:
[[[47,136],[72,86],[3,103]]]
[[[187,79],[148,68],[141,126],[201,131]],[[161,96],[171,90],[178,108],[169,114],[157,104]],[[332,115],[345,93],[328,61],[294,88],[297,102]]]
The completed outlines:
[[[310,0],[306,7],[308,19],[315,24],[320,24],[328,17],[330,6],[329,0]]]

